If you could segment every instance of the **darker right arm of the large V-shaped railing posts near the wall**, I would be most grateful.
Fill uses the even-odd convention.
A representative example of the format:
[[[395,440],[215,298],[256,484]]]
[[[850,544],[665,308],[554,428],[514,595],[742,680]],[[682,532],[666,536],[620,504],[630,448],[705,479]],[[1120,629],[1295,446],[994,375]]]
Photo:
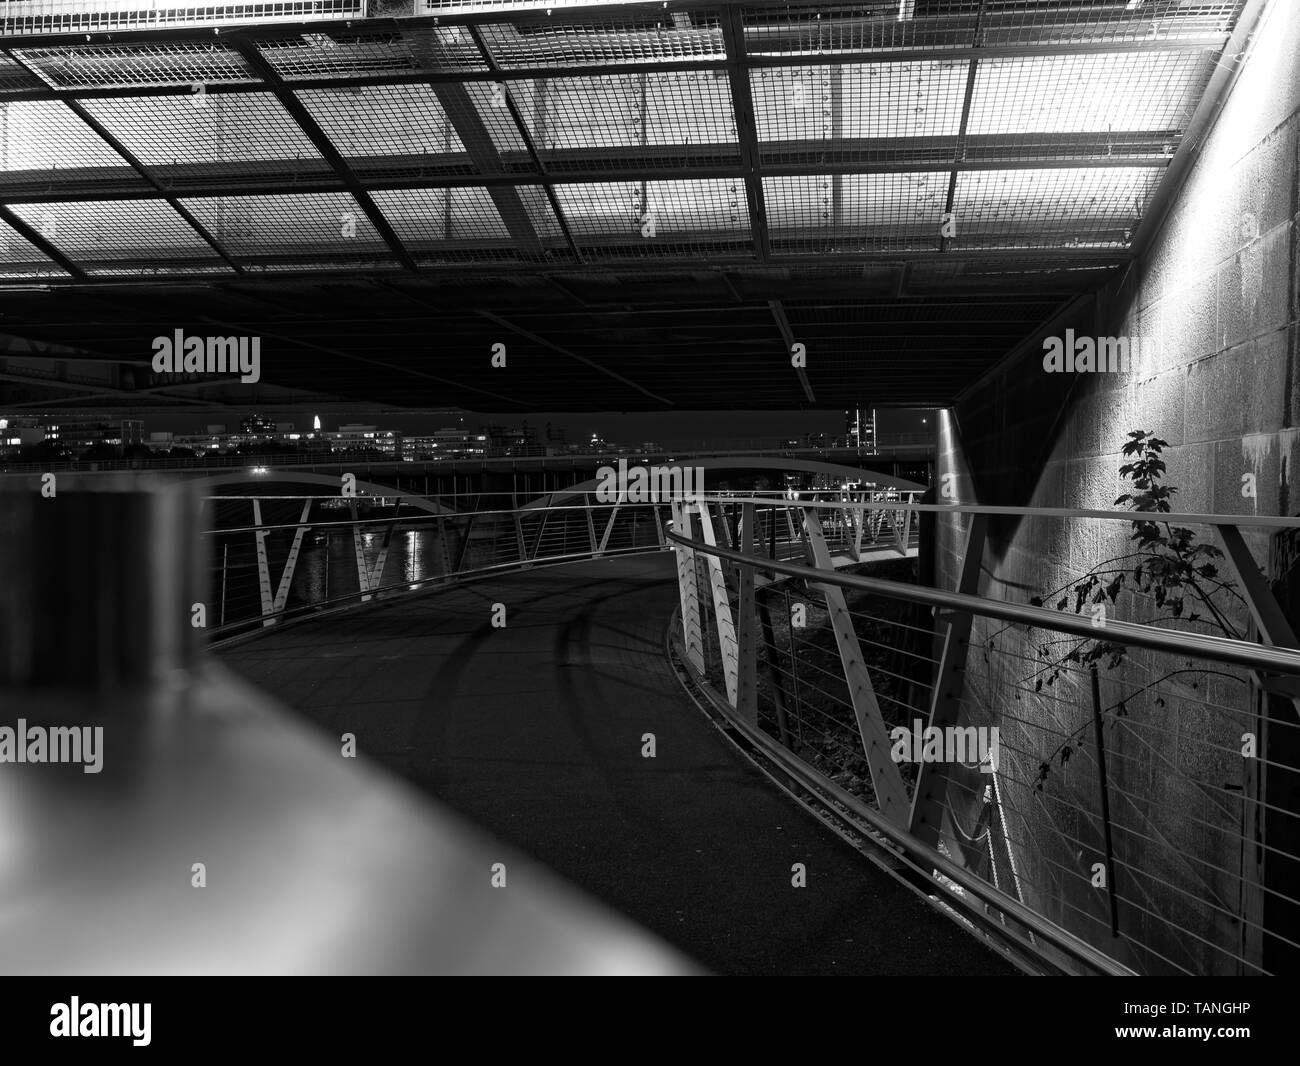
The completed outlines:
[[[971,528],[966,536],[966,551],[962,555],[961,573],[957,580],[957,592],[963,595],[975,595],[979,592],[979,572],[984,559],[987,532],[985,516],[971,515]],[[957,722],[970,634],[970,612],[950,612],[948,630],[944,636],[944,650],[935,673],[935,689],[930,697],[927,727],[944,729]],[[949,772],[950,767],[944,763],[920,762],[916,766],[916,790],[911,801],[910,829],[913,836],[931,848],[939,845],[939,837],[942,832]],[[954,854],[957,853],[954,852]]]

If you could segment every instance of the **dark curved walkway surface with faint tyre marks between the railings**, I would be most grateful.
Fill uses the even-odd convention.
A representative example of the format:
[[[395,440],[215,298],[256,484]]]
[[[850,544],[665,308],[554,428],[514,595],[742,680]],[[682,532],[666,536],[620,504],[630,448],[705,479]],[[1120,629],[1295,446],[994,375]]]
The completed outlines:
[[[676,598],[670,552],[594,560],[268,632],[222,658],[716,972],[1014,974],[705,720],[663,655]]]

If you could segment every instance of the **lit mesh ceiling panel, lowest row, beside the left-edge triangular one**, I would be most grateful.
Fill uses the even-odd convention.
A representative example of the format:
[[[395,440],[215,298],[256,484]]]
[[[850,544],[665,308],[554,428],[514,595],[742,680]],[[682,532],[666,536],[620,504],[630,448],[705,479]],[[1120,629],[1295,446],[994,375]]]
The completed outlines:
[[[14,204],[13,212],[88,273],[218,265],[211,246],[162,200]]]

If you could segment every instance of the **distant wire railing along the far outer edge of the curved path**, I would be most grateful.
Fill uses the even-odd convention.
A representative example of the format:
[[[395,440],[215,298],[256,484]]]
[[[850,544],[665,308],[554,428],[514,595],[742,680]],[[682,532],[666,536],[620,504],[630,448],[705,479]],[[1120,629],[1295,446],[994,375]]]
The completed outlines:
[[[827,524],[828,543],[842,562],[881,549],[915,552],[915,526],[893,504],[915,500],[918,493],[853,497],[874,502],[875,510],[862,524]],[[662,551],[672,524],[668,502],[602,503],[590,491],[552,493],[526,506],[511,493],[220,495],[203,504],[212,568],[208,633],[216,637],[473,576]],[[719,529],[731,543],[740,512],[720,508]],[[794,524],[763,525],[762,536],[777,558],[803,556]]]

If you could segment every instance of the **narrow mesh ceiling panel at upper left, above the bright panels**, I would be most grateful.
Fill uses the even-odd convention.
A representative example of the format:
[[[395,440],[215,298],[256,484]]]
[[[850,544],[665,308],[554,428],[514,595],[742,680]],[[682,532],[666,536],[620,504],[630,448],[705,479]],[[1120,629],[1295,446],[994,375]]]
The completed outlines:
[[[53,88],[257,81],[238,52],[214,42],[74,44],[14,48],[13,55]]]

